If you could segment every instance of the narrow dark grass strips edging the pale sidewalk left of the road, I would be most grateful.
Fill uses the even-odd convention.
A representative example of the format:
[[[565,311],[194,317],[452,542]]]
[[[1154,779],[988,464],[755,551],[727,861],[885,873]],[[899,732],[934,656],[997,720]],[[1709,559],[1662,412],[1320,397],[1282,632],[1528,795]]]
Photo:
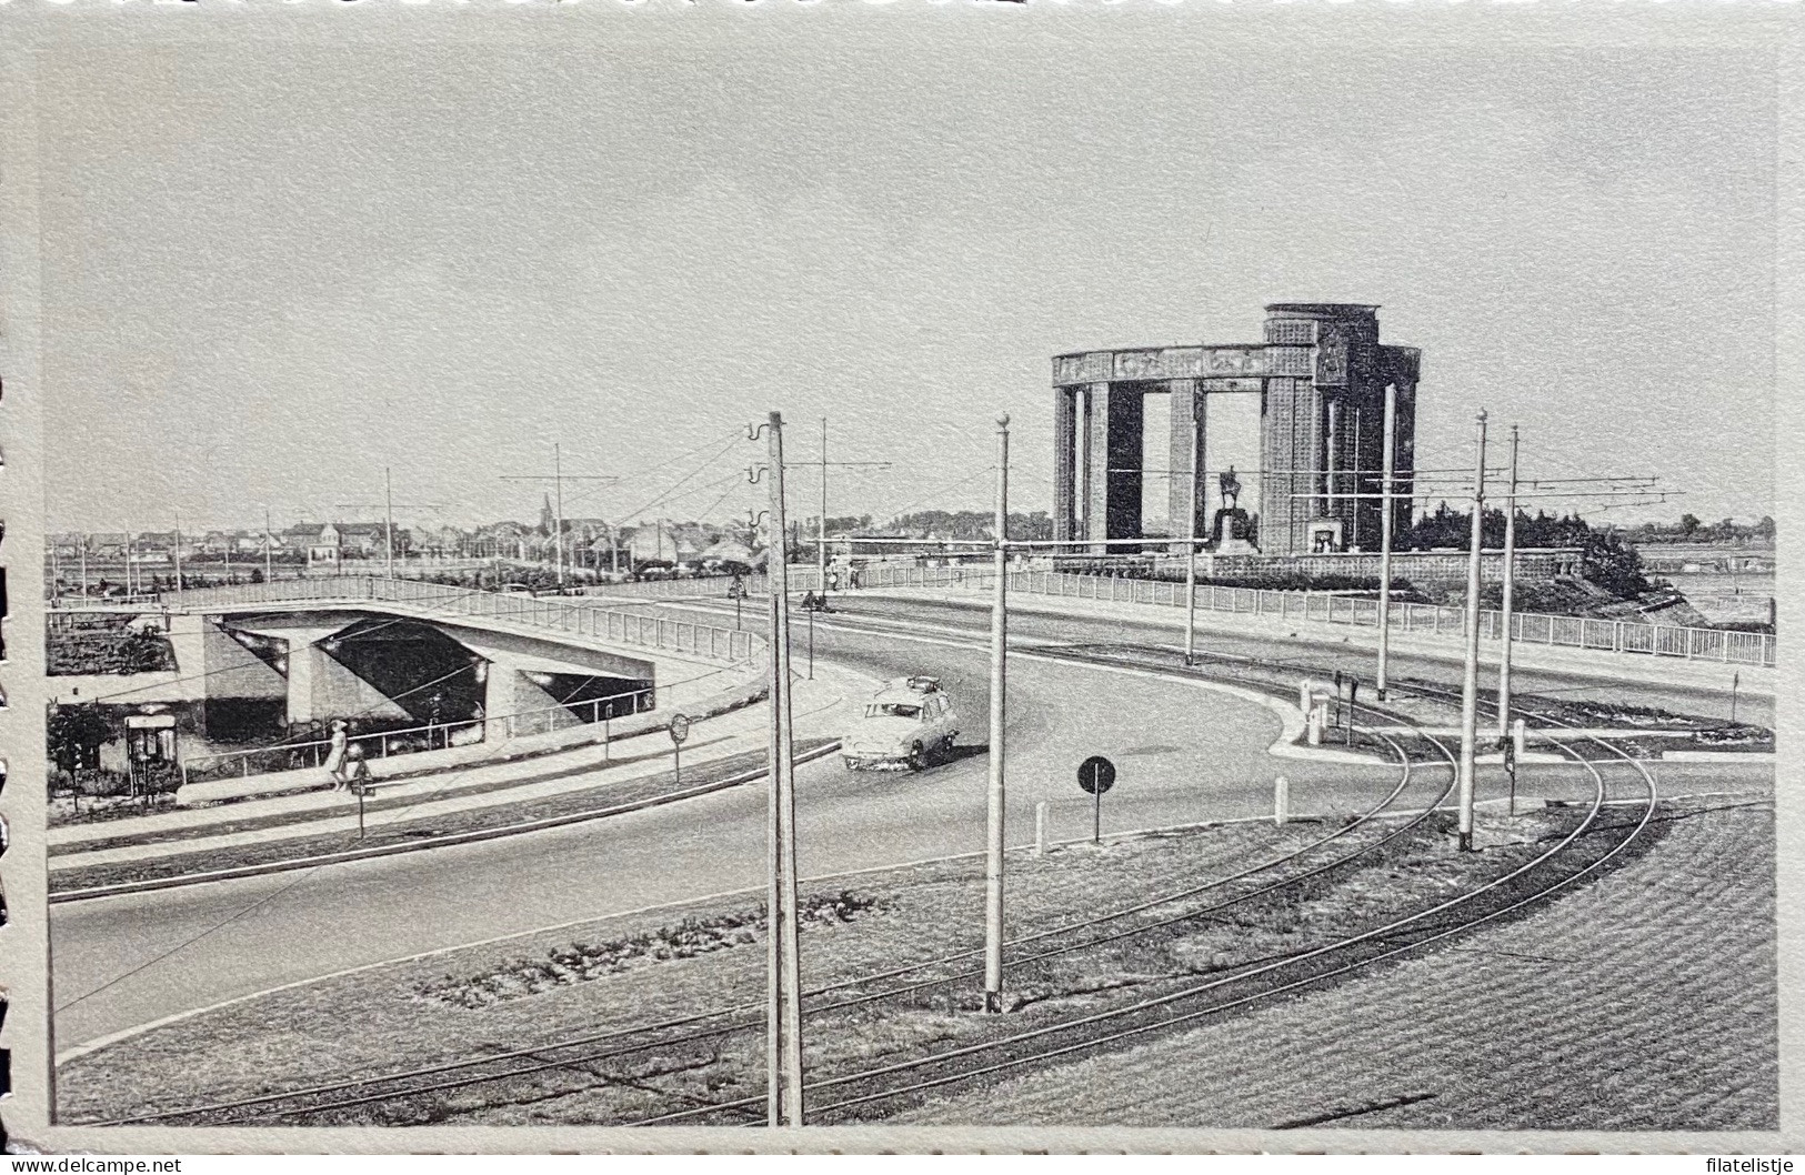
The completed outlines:
[[[827,745],[828,738],[803,738],[798,740],[798,754],[807,754],[818,747]],[[644,758],[670,758],[644,756]],[[209,848],[202,852],[175,852],[161,857],[148,857],[143,861],[119,861],[114,865],[88,865],[81,868],[54,870],[51,872],[51,893],[63,893],[69,890],[88,890],[96,886],[123,884],[132,881],[153,881],[161,877],[182,877],[188,874],[206,874],[213,870],[255,866],[255,865],[273,865],[282,861],[300,861],[303,857],[318,857],[336,852],[354,852],[359,848],[383,848],[393,845],[412,845],[430,837],[455,836],[462,832],[480,832],[487,828],[504,828],[507,825],[527,823],[534,819],[552,819],[578,816],[583,812],[606,810],[623,805],[643,803],[655,800],[662,794],[673,791],[690,791],[691,787],[704,787],[709,783],[718,783],[729,780],[736,774],[745,774],[749,771],[762,771],[765,767],[764,751],[749,751],[744,754],[731,754],[720,760],[709,760],[695,767],[684,767],[682,780],[679,782],[675,773],[661,771],[650,776],[639,776],[634,780],[617,780],[612,783],[601,783],[597,787],[585,787],[581,791],[563,792],[558,796],[545,796],[542,800],[525,800],[518,803],[493,803],[477,809],[464,809],[458,812],[442,812],[437,816],[426,816],[419,819],[395,819],[393,823],[372,825],[366,834],[359,839],[356,828],[343,832],[319,832],[314,836],[298,836],[282,841],[262,841],[255,845],[231,845],[224,848]],[[625,762],[625,760],[616,760]],[[567,769],[552,773],[547,776],[534,776],[529,780],[507,780],[504,783],[484,783],[469,789],[457,789],[448,785],[444,791],[433,791],[424,796],[392,796],[384,800],[381,796],[381,785],[377,785],[377,796],[365,801],[365,816],[375,812],[404,812],[408,809],[435,803],[439,800],[471,794],[502,791],[511,787],[520,787],[531,783],[538,778],[558,778],[563,774],[578,774],[585,771],[597,771],[599,763],[588,763],[578,769]],[[455,780],[455,773],[448,776]],[[343,810],[336,816],[356,816],[357,801],[354,796],[345,796]],[[271,823],[292,823],[283,819],[256,819],[240,821],[238,825],[208,825],[200,828],[200,834],[213,836],[217,832],[231,828],[253,828],[265,827]],[[103,841],[117,843],[117,841]],[[139,843],[137,837],[128,837],[128,843]],[[96,845],[70,845],[63,847],[65,852],[87,852],[96,848]],[[52,850],[52,859],[60,854]]]

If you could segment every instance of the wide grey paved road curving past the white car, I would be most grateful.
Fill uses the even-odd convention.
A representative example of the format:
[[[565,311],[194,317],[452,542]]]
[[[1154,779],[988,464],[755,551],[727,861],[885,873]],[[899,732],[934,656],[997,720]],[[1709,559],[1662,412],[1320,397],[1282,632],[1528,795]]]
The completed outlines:
[[[857,601],[821,623],[816,655],[872,677],[933,673],[962,715],[962,754],[919,776],[798,771],[805,875],[978,852],[984,837],[987,652],[971,608]],[[1159,641],[1121,623],[1023,615],[1034,641]],[[1110,635],[1114,634],[1114,635]],[[1213,648],[1229,648],[1211,637]],[[1256,650],[1245,643],[1249,652]],[[805,637],[798,641],[803,653]],[[798,655],[798,664],[803,664]],[[1312,657],[1314,661],[1314,657]],[[1424,671],[1433,662],[1424,662]],[[1401,662],[1399,673],[1417,671]],[[1527,682],[1525,682],[1527,684]],[[1088,832],[1072,771],[1117,760],[1105,830],[1271,810],[1273,778],[1298,810],[1352,812],[1393,767],[1276,760],[1278,718],[1195,684],[1022,653],[1009,679],[1011,841],[1052,803],[1054,836]],[[1536,791],[1588,794],[1578,771],[1543,769]],[[60,1050],[191,1009],[348,967],[762,886],[765,798],[744,787],[542,834],[374,861],[184,886],[52,908]]]

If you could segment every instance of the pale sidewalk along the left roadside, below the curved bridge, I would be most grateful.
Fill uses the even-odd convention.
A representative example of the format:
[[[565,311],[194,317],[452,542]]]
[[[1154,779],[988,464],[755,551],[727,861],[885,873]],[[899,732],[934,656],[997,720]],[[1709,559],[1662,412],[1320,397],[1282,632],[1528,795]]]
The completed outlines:
[[[848,713],[848,704],[863,699],[877,682],[872,679],[832,666],[816,664],[814,680],[798,680],[794,686],[794,722],[798,736],[839,736]],[[706,722],[697,722],[695,740],[686,744],[684,763],[697,765],[762,751],[769,744],[769,711],[754,704]],[[583,727],[594,729],[594,727]],[[552,756],[532,760],[511,760],[486,763],[458,771],[448,767],[419,780],[384,785],[379,789],[383,800],[419,796],[421,801],[393,809],[381,809],[366,814],[366,827],[377,828],[388,823],[430,819],[448,812],[462,812],[480,807],[523,803],[574,791],[594,791],[610,783],[626,783],[670,771],[670,736],[661,727],[632,738],[619,738],[612,745],[608,758],[625,760],[608,765],[603,747],[583,744]],[[419,756],[410,756],[419,758]],[[554,778],[543,778],[547,769],[556,769]],[[442,792],[451,774],[455,785],[467,794],[433,800]],[[509,780],[520,780],[518,787],[505,787]],[[469,791],[487,785],[486,791]],[[500,785],[500,787],[498,787]],[[90,865],[112,865],[119,861],[139,861],[155,856],[206,852],[213,848],[256,845],[280,839],[309,837],[327,832],[356,832],[357,803],[347,792],[329,789],[276,796],[271,800],[247,800],[244,803],[218,805],[209,809],[186,809],[157,812],[137,819],[117,819],[96,825],[63,825],[51,828],[51,845],[79,845],[83,841],[116,839],[121,836],[171,836],[208,827],[231,825],[240,821],[264,819],[271,816],[292,816],[280,825],[267,828],[240,828],[217,834],[200,832],[155,843],[117,845],[88,852],[69,852],[49,857],[49,868],[69,870]]]

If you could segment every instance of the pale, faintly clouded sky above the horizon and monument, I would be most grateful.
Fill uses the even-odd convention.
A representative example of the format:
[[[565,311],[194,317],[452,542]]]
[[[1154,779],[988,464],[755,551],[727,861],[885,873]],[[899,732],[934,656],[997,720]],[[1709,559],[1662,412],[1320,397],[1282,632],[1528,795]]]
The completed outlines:
[[[88,43],[38,94],[52,529],[375,518],[384,467],[403,522],[532,520],[504,478],[554,442],[621,478],[570,516],[744,518],[774,410],[792,462],[823,417],[890,462],[832,514],[986,509],[1000,413],[1049,509],[1054,354],[1271,301],[1422,348],[1422,466],[1486,408],[1527,473],[1684,491],[1603,518],[1773,513],[1774,78],[1733,34],[608,18]]]

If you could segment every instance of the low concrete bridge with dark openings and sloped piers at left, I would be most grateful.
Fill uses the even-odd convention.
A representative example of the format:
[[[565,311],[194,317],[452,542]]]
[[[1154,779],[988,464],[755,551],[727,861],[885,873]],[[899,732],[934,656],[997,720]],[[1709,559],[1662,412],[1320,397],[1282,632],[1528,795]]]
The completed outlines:
[[[282,720],[377,718],[381,753],[453,740],[505,742],[648,709],[706,704],[764,666],[762,634],[610,606],[412,579],[329,578],[170,592],[155,603],[88,603],[63,615],[155,615],[175,671],[58,677],[63,700],[199,700],[280,709]],[[282,763],[296,747],[278,744]],[[182,756],[182,774],[213,778],[276,767],[264,754]]]

